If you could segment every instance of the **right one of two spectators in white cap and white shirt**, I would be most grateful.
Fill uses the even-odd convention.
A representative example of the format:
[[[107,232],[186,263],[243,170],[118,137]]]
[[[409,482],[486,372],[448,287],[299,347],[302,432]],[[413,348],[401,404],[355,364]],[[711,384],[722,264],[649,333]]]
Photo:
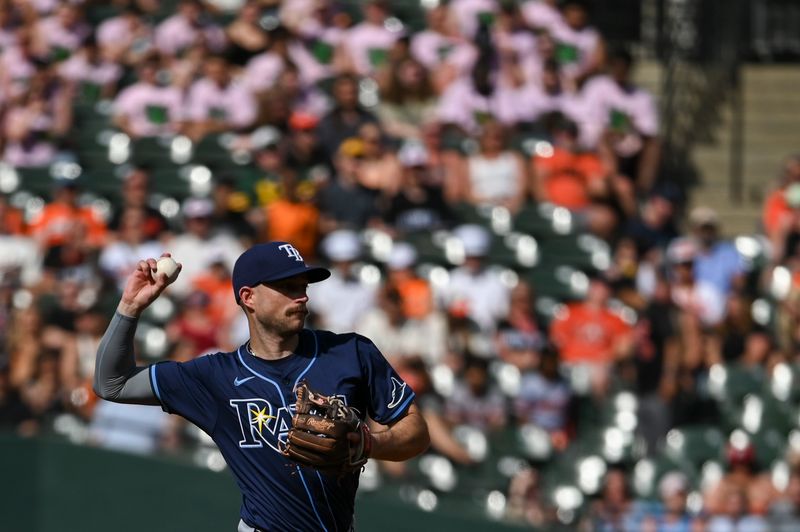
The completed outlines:
[[[489,268],[491,235],[479,225],[462,225],[453,231],[464,249],[464,265],[450,274],[444,305],[461,309],[485,333],[493,333],[497,320],[508,314],[509,289]]]

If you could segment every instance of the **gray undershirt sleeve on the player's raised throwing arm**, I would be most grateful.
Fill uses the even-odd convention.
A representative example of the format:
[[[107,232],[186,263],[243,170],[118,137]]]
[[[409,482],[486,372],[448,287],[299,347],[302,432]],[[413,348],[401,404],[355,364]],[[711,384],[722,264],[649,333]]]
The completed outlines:
[[[136,318],[114,313],[106,329],[94,368],[95,393],[115,403],[158,405],[147,366],[137,366],[133,352]]]

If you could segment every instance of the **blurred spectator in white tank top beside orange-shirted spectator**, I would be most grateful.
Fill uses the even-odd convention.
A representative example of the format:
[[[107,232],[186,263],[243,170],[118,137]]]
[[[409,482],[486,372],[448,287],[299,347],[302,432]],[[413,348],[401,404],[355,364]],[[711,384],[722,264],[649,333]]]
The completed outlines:
[[[509,148],[503,126],[491,120],[482,126],[478,145],[478,152],[467,157],[466,200],[472,205],[501,206],[516,213],[528,191],[522,157]]]

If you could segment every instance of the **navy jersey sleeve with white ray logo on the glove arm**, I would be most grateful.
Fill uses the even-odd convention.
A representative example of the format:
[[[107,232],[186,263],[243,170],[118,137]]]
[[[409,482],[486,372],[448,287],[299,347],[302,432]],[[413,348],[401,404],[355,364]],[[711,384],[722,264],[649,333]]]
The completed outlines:
[[[414,390],[400,378],[374,343],[363,336],[357,336],[356,345],[369,387],[369,416],[381,424],[397,421],[411,406],[415,397]]]

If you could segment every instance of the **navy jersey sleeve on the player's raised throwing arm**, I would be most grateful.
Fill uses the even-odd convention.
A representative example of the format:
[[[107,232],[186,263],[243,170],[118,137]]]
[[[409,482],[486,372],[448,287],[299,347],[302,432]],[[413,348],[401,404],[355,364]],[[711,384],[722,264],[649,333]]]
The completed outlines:
[[[150,366],[150,384],[164,411],[188,419],[208,434],[218,412],[208,383],[213,375],[210,356]]]

